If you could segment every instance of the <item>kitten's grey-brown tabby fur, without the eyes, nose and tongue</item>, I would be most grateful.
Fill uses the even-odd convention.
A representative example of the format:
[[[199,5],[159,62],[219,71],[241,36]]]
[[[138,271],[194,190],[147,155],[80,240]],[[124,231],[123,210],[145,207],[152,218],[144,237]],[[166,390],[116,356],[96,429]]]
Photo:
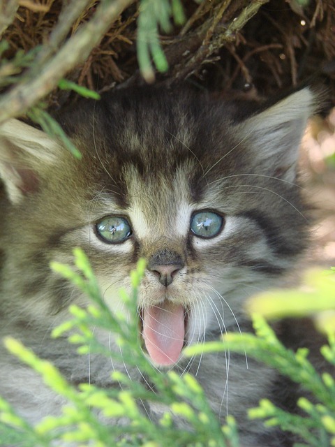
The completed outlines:
[[[71,302],[87,303],[49,268],[52,260],[72,263],[75,246],[88,254],[113,310],[120,308],[117,289],[130,288],[128,273],[142,256],[148,265],[179,264],[169,286],[147,270],[139,306],[183,305],[188,342],[237,331],[237,321],[250,330],[244,302],[280,284],[306,244],[296,171],[316,96],[306,87],[258,109],[191,92],[120,91],[59,118],[81,161],[42,131],[17,120],[3,124],[0,337],[22,339],[73,383],[112,385],[110,359],[91,356],[88,365],[65,338],[50,339]],[[221,233],[191,234],[197,210],[221,213]],[[123,243],[107,244],[95,233],[94,224],[111,214],[131,222],[133,235]],[[109,334],[100,337],[109,343]],[[34,423],[59,412],[61,397],[37,374],[2,346],[0,356],[0,395]],[[176,369],[186,364],[181,353]],[[276,430],[246,420],[246,409],[261,397],[288,402],[292,390],[274,372],[250,359],[247,369],[244,358],[224,353],[196,358],[189,369],[218,417],[236,416],[242,446],[290,445]],[[138,372],[131,374],[137,379]],[[151,418],[162,411],[148,409]]]

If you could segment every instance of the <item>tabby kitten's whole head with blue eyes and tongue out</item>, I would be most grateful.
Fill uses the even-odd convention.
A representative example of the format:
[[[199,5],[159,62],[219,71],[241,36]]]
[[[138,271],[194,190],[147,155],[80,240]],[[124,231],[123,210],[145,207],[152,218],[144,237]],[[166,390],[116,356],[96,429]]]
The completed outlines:
[[[40,148],[13,142],[29,133],[23,124],[2,133],[4,290],[33,321],[84,303],[48,268],[70,263],[80,246],[119,310],[117,291],[130,291],[129,273],[145,258],[139,318],[158,365],[233,328],[246,297],[295,261],[306,225],[295,164],[311,91],[251,117],[239,113],[244,105],[174,96],[120,93],[61,117],[80,161],[38,131],[27,140]]]

